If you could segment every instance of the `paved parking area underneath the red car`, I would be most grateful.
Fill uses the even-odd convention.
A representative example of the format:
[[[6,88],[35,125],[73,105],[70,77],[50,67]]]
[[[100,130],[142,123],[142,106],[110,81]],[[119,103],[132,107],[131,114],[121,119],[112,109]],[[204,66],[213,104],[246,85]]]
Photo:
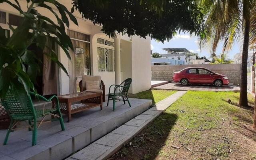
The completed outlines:
[[[240,91],[240,86],[222,86],[215,87],[212,85],[194,85],[182,86],[179,83],[168,83],[152,88],[153,90],[200,90],[200,91]]]

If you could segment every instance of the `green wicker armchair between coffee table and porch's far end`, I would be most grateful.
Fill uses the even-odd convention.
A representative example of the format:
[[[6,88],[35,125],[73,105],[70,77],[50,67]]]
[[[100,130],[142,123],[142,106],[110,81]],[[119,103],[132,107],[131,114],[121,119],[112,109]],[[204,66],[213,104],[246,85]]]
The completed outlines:
[[[128,90],[130,88],[131,83],[132,83],[132,78],[127,78],[120,85],[113,84],[109,87],[108,102],[109,102],[109,100],[113,100],[113,110],[115,110],[116,100],[118,100],[118,101],[122,100],[124,102],[124,104],[125,104],[125,101],[127,101],[129,106],[131,107],[131,104],[127,97]],[[110,93],[110,89],[112,86],[114,86],[114,93]],[[122,98],[122,99],[120,99],[120,98]],[[108,106],[108,104],[107,104],[107,106]]]

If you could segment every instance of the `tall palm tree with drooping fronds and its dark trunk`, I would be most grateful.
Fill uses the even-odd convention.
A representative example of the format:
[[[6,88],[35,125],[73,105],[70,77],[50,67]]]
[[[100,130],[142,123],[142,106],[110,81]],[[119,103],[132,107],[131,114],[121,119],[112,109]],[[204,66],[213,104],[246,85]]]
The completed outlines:
[[[247,58],[250,44],[256,42],[256,0],[198,0],[205,18],[204,35],[199,38],[200,47],[210,46],[216,51],[219,42],[224,40],[222,53],[232,48],[235,40],[243,39],[241,67],[241,106],[248,106],[247,100]],[[254,12],[255,13],[255,12]],[[250,26],[254,27],[250,30]]]

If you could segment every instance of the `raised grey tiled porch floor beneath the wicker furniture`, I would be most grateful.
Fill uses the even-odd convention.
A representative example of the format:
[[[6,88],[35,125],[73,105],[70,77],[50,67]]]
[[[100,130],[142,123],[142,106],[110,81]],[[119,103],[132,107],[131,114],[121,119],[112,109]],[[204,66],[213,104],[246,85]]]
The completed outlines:
[[[59,121],[43,124],[36,146],[32,146],[32,132],[27,128],[11,132],[4,146],[6,130],[0,130],[0,160],[62,160],[148,110],[152,100],[130,98],[130,103],[131,107],[116,102],[113,111],[112,101],[108,107],[105,102],[103,110],[98,106],[72,114],[70,122],[64,115],[65,131],[61,131]]]

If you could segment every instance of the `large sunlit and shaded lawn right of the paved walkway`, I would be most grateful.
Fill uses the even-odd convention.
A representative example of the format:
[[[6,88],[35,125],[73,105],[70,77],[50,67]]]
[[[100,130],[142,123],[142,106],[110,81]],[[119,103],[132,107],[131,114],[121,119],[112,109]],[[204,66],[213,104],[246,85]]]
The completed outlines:
[[[252,106],[253,97],[248,99]],[[235,92],[188,91],[112,158],[256,160],[253,108],[240,108],[238,102]]]

